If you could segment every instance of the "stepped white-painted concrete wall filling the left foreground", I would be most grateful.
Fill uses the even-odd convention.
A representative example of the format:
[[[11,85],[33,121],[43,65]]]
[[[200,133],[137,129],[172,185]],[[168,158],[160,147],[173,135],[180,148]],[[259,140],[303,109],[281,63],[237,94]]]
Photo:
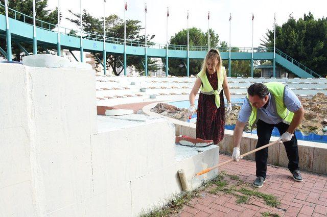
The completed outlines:
[[[179,168],[191,179],[218,162],[219,147],[179,156],[165,118],[97,116],[95,83],[92,70],[0,65],[0,216],[137,216],[181,191]]]

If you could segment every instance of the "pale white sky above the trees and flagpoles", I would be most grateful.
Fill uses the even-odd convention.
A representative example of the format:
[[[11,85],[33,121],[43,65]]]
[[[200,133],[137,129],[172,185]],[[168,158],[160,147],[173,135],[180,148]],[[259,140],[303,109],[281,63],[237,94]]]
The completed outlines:
[[[49,9],[57,7],[58,0],[48,0]],[[313,13],[314,17],[327,16],[326,0],[127,0],[126,19],[137,19],[145,25],[144,4],[147,3],[147,34],[155,35],[153,41],[166,43],[167,7],[168,17],[168,40],[182,29],[187,28],[187,11],[189,10],[189,28],[196,27],[202,31],[208,30],[207,14],[210,11],[209,27],[219,34],[220,41],[229,44],[229,13],[230,44],[237,47],[252,46],[252,13],[253,21],[253,46],[260,45],[267,29],[273,29],[274,13],[276,24],[282,25],[292,13],[295,19],[303,17],[303,14]],[[106,0],[105,16],[117,14],[124,18],[124,0]],[[82,6],[93,16],[103,17],[103,0],[82,0]],[[71,17],[68,9],[73,12],[80,11],[80,0],[60,0],[60,10],[63,17]],[[76,29],[77,26],[66,19],[62,19],[62,27]],[[144,34],[141,32],[141,34]]]

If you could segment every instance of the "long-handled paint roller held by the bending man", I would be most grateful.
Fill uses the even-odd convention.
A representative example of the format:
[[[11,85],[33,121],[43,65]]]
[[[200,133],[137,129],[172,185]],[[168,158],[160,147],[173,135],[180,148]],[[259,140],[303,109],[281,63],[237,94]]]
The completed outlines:
[[[262,147],[260,147],[260,148],[258,148],[258,149],[254,149],[254,150],[252,150],[252,151],[249,151],[249,152],[247,152],[247,153],[244,153],[244,154],[240,155],[240,157],[243,158],[243,157],[245,157],[245,156],[247,156],[247,155],[249,155],[249,154],[252,154],[252,153],[254,153],[254,152],[258,152],[258,151],[260,151],[260,150],[262,150],[262,149],[265,149],[265,148],[267,148],[267,147],[269,147],[269,146],[272,146],[273,144],[276,144],[276,143],[283,143],[283,141],[279,141],[279,140],[277,140],[277,141],[270,142],[270,143],[268,143],[268,144],[265,144],[265,146],[262,146]],[[227,160],[227,161],[225,161],[225,162],[222,162],[222,163],[219,163],[219,164],[217,164],[217,165],[215,165],[215,166],[212,166],[212,167],[206,168],[205,170],[203,170],[203,171],[201,171],[201,172],[199,172],[199,173],[196,173],[196,174],[192,177],[192,179],[193,179],[194,177],[197,177],[197,176],[200,176],[200,175],[202,175],[202,174],[208,173],[208,172],[210,172],[210,171],[214,170],[215,168],[218,168],[218,167],[220,167],[220,166],[222,166],[222,165],[225,165],[225,164],[227,164],[227,163],[230,163],[231,161],[234,161],[234,160],[233,160],[233,159],[229,159],[229,160]],[[182,189],[183,189],[183,190],[186,190],[186,191],[190,190],[190,185],[189,185],[189,183],[188,183],[188,180],[186,179],[186,175],[185,175],[185,172],[183,171],[183,169],[178,170],[178,175],[179,175],[179,179],[180,179],[180,182],[181,182],[181,185],[182,185]]]

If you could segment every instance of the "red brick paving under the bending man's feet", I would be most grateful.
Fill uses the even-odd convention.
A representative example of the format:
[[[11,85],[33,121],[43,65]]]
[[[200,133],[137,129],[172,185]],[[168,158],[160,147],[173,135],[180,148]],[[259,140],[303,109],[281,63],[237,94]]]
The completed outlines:
[[[220,154],[220,162],[230,156]],[[252,183],[255,177],[255,162],[241,160],[220,168],[230,175],[238,175],[245,183]],[[272,194],[281,200],[280,209],[265,205],[261,199],[252,198],[247,204],[237,204],[236,197],[223,192],[219,195],[202,191],[189,205],[173,216],[263,216],[263,212],[279,216],[327,216],[327,177],[302,173],[303,182],[295,182],[287,168],[268,166],[267,179],[259,191]]]

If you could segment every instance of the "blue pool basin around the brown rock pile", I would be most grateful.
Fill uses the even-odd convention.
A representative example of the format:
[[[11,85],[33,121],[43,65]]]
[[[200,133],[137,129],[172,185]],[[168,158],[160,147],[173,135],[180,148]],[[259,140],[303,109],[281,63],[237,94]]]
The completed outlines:
[[[244,101],[244,98],[231,99],[232,103],[239,104],[239,105],[242,105],[243,101]],[[172,102],[172,103],[168,103],[168,104],[176,106],[177,108],[189,108],[189,106],[190,106],[189,101],[178,101],[178,102]],[[198,101],[196,100],[195,107],[197,108],[197,106],[198,106]],[[190,120],[188,120],[188,122],[196,123],[196,114],[193,114],[192,118]],[[225,126],[225,129],[227,129],[227,130],[234,130],[234,128],[235,128],[235,125],[226,125]],[[250,132],[246,132],[246,133],[250,133]],[[252,133],[256,134],[256,130],[253,130]],[[274,128],[271,135],[272,136],[280,136],[278,129]],[[314,133],[310,133],[309,135],[306,135],[306,134],[302,134],[302,132],[299,130],[295,131],[295,135],[296,135],[297,139],[299,139],[299,140],[327,143],[327,135],[318,135],[318,134],[314,134]]]

